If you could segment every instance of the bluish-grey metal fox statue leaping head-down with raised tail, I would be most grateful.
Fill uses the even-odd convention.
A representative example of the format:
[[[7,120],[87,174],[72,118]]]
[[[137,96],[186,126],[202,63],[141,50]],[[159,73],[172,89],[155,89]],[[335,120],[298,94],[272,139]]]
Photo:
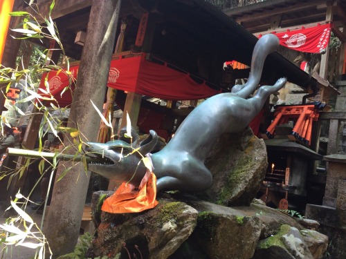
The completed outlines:
[[[286,84],[286,78],[276,81],[273,86],[261,86],[253,94],[260,82],[266,57],[279,46],[275,35],[265,35],[257,41],[251,61],[251,74],[246,84],[233,86],[231,93],[220,93],[202,102],[179,126],[167,145],[150,157],[157,178],[157,191],[181,190],[199,192],[212,184],[212,173],[204,165],[204,160],[212,146],[223,133],[237,133],[244,130],[260,112],[269,95]],[[154,131],[140,144],[138,152],[147,154],[157,141]],[[137,152],[128,155],[133,148],[125,137],[105,144],[87,143],[86,151],[98,155],[103,162],[89,164],[89,170],[99,175],[129,182],[138,186],[147,169],[142,156]]]

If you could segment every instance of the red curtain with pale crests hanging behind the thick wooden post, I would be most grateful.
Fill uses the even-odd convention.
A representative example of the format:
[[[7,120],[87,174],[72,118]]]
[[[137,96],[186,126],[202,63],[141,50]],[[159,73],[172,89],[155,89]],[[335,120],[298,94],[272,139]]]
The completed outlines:
[[[188,73],[169,68],[167,64],[156,64],[145,56],[145,53],[138,53],[134,57],[112,59],[107,86],[168,100],[203,99],[219,93],[207,86],[206,81],[199,84]],[[78,69],[78,65],[71,66],[70,72],[74,77],[77,77]],[[40,88],[46,89],[46,77],[47,74],[42,76]],[[64,71],[51,71],[47,77],[51,94],[64,104],[71,104],[71,93],[66,92],[60,97],[62,90],[69,86],[70,78]]]

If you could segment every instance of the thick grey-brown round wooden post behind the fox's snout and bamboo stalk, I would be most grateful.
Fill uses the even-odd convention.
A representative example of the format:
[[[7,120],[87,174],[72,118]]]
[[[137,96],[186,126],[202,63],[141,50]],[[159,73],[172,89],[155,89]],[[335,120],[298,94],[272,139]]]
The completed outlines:
[[[95,142],[100,116],[91,104],[102,110],[111,55],[116,38],[121,0],[93,0],[80,60],[68,126],[78,127],[83,141]],[[69,137],[69,136],[66,136]],[[65,144],[70,141],[66,138]],[[71,151],[74,153],[75,151]],[[44,233],[54,257],[73,251],[77,243],[88,189],[90,172],[83,164],[60,162],[56,177],[73,166],[60,182],[55,182]]]

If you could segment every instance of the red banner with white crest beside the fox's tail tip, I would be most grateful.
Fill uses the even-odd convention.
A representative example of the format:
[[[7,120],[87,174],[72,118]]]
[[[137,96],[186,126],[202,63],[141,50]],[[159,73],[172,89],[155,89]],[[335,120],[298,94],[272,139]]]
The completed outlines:
[[[331,23],[318,24],[317,26],[298,30],[286,30],[285,32],[271,32],[280,39],[280,44],[286,48],[292,48],[302,52],[323,52],[330,38]],[[262,37],[259,35],[258,37]]]

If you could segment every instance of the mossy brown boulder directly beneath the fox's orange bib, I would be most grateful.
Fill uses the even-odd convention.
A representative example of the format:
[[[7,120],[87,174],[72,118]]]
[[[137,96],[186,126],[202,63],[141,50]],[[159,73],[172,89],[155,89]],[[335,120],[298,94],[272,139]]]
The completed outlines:
[[[128,258],[129,253],[136,258],[168,258],[194,231],[197,215],[187,204],[170,200],[160,200],[143,213],[102,212],[100,221],[95,220],[100,223],[89,256],[113,258],[120,253],[120,258]]]

